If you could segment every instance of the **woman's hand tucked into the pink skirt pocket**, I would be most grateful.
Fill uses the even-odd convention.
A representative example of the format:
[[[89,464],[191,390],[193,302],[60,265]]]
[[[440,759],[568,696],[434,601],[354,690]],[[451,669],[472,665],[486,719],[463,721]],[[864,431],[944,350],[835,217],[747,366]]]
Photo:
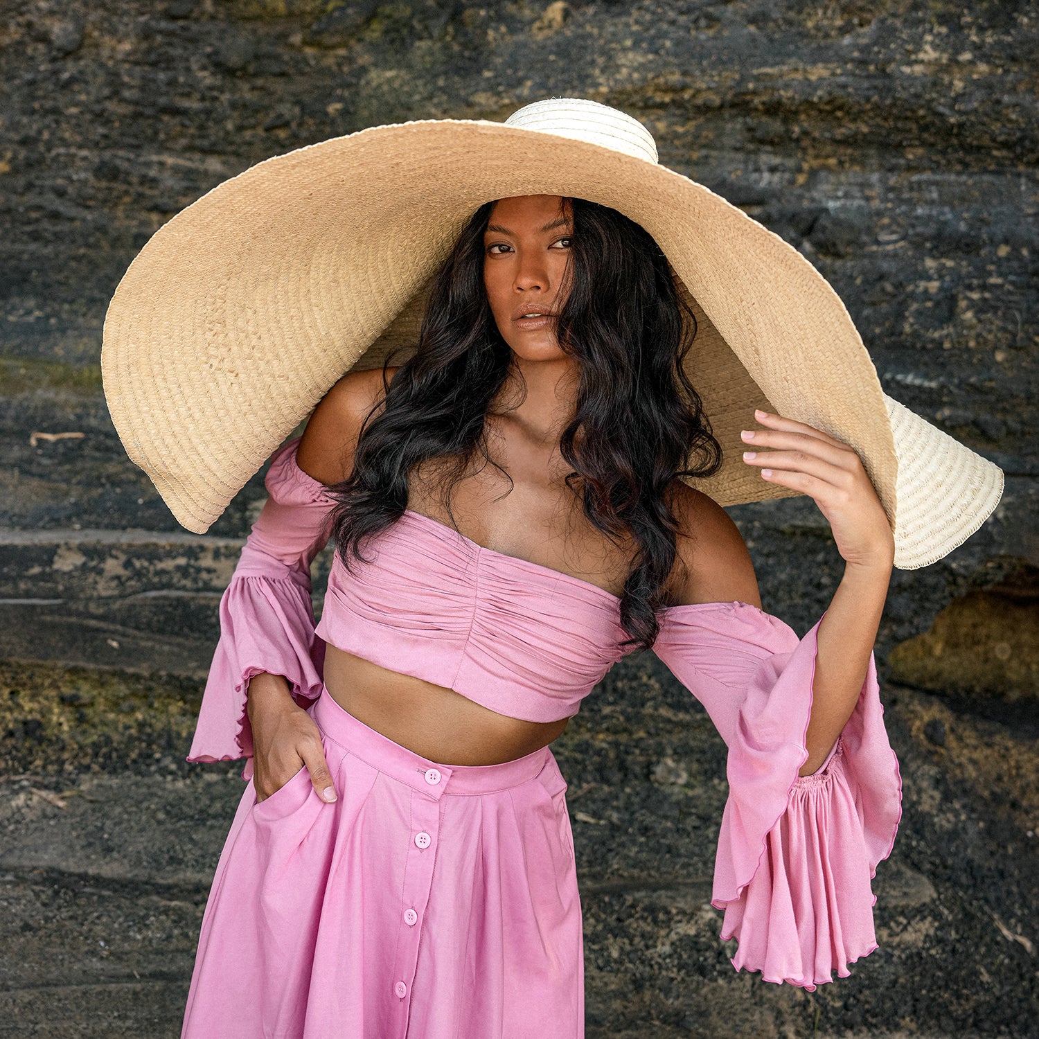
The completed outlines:
[[[279,674],[256,674],[246,700],[252,727],[252,785],[257,801],[281,790],[305,767],[322,801],[336,801],[321,730],[292,698],[288,680]]]

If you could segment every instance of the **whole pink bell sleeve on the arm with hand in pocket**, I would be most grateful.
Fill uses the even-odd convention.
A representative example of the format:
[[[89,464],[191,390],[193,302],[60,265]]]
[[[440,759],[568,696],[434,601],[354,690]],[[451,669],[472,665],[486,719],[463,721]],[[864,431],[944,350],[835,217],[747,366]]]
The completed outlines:
[[[245,713],[249,680],[284,675],[305,705],[321,692],[324,642],[315,635],[311,563],[330,534],[324,484],[296,462],[299,437],[271,456],[268,498],[220,598],[220,639],[213,655],[189,762],[250,761]]]

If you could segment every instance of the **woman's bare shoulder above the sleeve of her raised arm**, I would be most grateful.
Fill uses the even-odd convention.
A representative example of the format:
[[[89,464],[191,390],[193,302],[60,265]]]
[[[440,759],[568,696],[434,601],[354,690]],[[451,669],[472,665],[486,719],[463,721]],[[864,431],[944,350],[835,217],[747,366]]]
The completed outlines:
[[[732,517],[710,495],[682,480],[675,481],[671,509],[678,521],[677,552],[685,564],[675,569],[672,605],[739,600],[760,607],[754,564]]]

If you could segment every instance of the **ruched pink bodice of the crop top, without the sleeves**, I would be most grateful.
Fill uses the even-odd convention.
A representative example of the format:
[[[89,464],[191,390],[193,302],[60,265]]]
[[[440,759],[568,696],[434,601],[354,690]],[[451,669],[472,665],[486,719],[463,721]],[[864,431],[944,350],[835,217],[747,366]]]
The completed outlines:
[[[420,512],[405,510],[365,554],[349,572],[337,556],[317,634],[499,714],[569,717],[627,651],[616,596]]]

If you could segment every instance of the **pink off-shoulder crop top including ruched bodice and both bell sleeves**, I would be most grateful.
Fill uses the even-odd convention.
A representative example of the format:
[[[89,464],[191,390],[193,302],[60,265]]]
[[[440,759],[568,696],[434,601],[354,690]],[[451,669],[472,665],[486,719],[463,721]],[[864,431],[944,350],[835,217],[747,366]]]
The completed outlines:
[[[298,443],[271,458],[269,497],[220,600],[189,761],[251,757],[249,680],[284,675],[305,707],[324,689],[326,642],[531,721],[574,715],[628,651],[615,595],[410,510],[369,541],[370,563],[348,572],[335,559],[315,625],[311,564],[335,503],[299,469]],[[821,620],[798,638],[747,603],[676,606],[654,645],[728,747],[712,903],[725,910],[722,938],[739,939],[732,963],[808,990],[876,948],[870,881],[894,846],[902,790],[872,655],[829,757],[798,775]]]

